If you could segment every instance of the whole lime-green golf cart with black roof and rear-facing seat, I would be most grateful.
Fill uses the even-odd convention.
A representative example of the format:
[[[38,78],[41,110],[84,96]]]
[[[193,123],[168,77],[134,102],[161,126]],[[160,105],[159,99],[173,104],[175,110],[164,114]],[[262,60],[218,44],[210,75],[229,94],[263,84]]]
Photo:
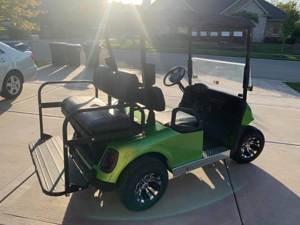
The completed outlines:
[[[110,28],[123,25],[141,30],[143,82],[133,73],[118,70],[108,34]],[[162,90],[153,86],[155,65],[146,63],[145,34],[148,26],[155,25],[188,28],[188,85],[181,83],[186,74],[183,67],[171,69],[163,79],[164,85],[178,85],[183,92],[179,106],[171,110],[166,110]],[[69,196],[89,185],[102,191],[117,189],[125,207],[142,211],[163,196],[168,171],[179,176],[227,157],[237,163],[257,158],[264,137],[249,126],[253,118],[246,101],[247,91],[252,90],[253,27],[245,19],[185,10],[112,13],[105,32],[110,57],[105,59],[106,66],[95,69],[93,81],[46,82],[38,90],[41,135],[29,143],[29,149],[42,191]],[[192,58],[192,29],[242,30],[247,37],[246,63],[215,66],[218,62]],[[212,66],[206,67],[209,63]],[[222,84],[228,81],[238,86],[237,77],[242,79],[242,93],[228,92]],[[58,83],[91,83],[95,96],[42,103],[42,88]],[[98,90],[108,95],[107,103],[98,98]],[[62,141],[43,132],[42,108],[53,107],[60,107],[66,117]],[[75,130],[72,139],[68,139],[68,123]]]

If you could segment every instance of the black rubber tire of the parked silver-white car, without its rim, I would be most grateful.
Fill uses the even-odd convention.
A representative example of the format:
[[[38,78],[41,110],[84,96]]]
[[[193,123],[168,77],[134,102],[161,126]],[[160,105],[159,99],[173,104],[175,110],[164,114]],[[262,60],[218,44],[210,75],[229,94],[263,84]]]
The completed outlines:
[[[18,81],[19,81],[19,83],[16,85],[17,88],[18,88],[18,91],[13,92],[13,93],[10,93],[9,90],[8,90],[11,87],[7,87],[7,83],[8,83],[8,81],[9,82],[11,81],[10,80],[11,77],[17,78]],[[6,76],[3,80],[2,91],[1,91],[0,95],[3,98],[8,98],[8,99],[17,98],[21,94],[22,89],[23,89],[23,78],[22,78],[22,76],[19,73],[16,73],[16,72],[9,72],[8,74],[6,74]]]

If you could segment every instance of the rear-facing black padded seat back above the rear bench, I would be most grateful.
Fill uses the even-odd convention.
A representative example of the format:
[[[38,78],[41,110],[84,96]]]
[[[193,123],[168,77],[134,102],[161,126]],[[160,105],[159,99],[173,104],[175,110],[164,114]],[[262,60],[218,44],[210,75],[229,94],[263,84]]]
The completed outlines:
[[[135,103],[138,99],[138,77],[133,73],[118,71],[113,73],[108,66],[95,69],[93,81],[96,87],[113,98],[125,103]]]

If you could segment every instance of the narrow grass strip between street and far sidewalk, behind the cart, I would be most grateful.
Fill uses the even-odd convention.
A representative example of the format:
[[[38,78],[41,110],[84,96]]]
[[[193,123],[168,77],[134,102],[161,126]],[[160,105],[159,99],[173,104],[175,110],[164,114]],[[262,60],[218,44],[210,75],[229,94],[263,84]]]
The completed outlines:
[[[113,40],[118,41],[118,40]],[[126,44],[111,44],[115,49],[122,49],[122,50],[140,50],[139,45],[126,45]],[[105,43],[102,44],[103,47],[107,47]],[[148,52],[162,52],[162,53],[181,53],[187,54],[187,48],[171,48],[171,47],[150,47],[146,46],[146,51]],[[222,52],[222,51],[211,51],[210,49],[193,49],[192,53],[195,55],[212,55],[212,56],[228,56],[228,57],[242,57],[245,58],[245,52]],[[251,53],[251,58],[261,58],[261,59],[276,59],[276,60],[291,60],[291,61],[300,61],[300,56],[287,56],[283,55],[282,58],[279,55],[269,55],[269,54],[257,54]]]

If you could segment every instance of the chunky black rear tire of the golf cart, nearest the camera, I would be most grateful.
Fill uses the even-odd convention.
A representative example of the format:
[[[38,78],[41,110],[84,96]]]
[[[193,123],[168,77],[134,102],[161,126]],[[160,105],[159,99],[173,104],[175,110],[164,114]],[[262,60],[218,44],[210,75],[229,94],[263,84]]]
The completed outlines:
[[[149,175],[150,177],[148,177]],[[144,179],[145,177],[147,179]],[[155,181],[151,182],[151,179]],[[148,187],[146,186],[146,189],[141,190],[142,180],[143,182],[148,180],[146,182]],[[168,171],[166,166],[158,158],[151,155],[145,155],[136,158],[129,163],[120,174],[117,184],[118,198],[129,210],[143,211],[152,207],[159,201],[166,191],[167,186]],[[142,188],[145,188],[145,186],[142,185]],[[141,192],[138,192],[138,190],[141,190]],[[155,190],[157,190],[156,194],[153,192]],[[154,198],[151,199],[146,191],[150,191],[150,195]],[[144,197],[140,198],[141,196]]]

